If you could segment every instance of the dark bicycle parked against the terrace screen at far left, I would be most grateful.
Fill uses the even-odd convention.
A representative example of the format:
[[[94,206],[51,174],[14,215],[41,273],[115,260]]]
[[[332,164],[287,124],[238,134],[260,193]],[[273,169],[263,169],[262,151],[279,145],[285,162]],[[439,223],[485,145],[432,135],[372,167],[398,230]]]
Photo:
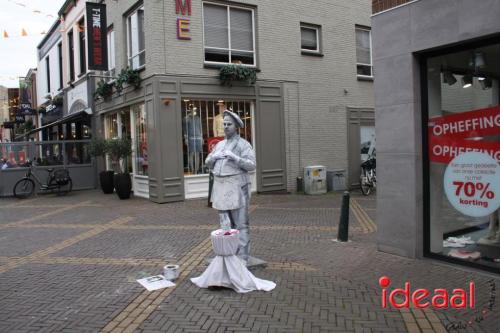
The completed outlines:
[[[13,191],[16,198],[24,199],[32,196],[35,193],[35,181],[40,186],[40,190],[55,192],[57,195],[66,195],[73,189],[73,181],[67,169],[46,169],[49,174],[44,184],[33,172],[33,163],[27,162],[27,166],[29,169],[24,177],[14,185]]]

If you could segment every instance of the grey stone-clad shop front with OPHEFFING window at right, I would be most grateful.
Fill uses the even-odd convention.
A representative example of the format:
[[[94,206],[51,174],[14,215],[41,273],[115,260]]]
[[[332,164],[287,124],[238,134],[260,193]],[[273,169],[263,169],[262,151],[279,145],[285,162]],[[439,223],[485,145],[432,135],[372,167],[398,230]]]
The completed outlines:
[[[499,10],[412,1],[372,17],[384,252],[500,272]]]

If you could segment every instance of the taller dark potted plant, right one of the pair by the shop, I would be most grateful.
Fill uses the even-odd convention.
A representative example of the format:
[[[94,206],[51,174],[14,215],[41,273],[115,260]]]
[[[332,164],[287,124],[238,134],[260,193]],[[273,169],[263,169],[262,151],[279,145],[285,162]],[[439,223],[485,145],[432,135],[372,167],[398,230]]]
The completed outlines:
[[[128,157],[132,154],[130,139],[116,138],[108,140],[108,152],[114,165],[117,167],[114,179],[116,194],[122,200],[128,199],[132,191],[132,180],[130,179],[130,174],[127,172]],[[123,161],[123,165],[120,163],[120,160]]]

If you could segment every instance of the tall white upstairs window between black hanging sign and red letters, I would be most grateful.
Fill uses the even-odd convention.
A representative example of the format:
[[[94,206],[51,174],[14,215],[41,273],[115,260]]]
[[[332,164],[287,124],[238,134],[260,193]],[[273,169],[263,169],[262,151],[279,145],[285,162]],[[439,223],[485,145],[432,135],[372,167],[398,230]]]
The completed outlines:
[[[130,67],[137,69],[145,65],[144,7],[138,8],[127,17],[127,52]]]

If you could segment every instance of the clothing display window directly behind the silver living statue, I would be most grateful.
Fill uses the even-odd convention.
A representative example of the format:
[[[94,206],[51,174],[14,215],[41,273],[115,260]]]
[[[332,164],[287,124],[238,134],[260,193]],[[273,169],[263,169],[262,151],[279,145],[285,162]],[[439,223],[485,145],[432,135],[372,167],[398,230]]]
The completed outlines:
[[[230,108],[245,123],[240,136],[252,141],[253,103],[251,101],[191,100],[182,101],[184,174],[207,174],[205,159],[215,144],[224,139],[222,113]]]

